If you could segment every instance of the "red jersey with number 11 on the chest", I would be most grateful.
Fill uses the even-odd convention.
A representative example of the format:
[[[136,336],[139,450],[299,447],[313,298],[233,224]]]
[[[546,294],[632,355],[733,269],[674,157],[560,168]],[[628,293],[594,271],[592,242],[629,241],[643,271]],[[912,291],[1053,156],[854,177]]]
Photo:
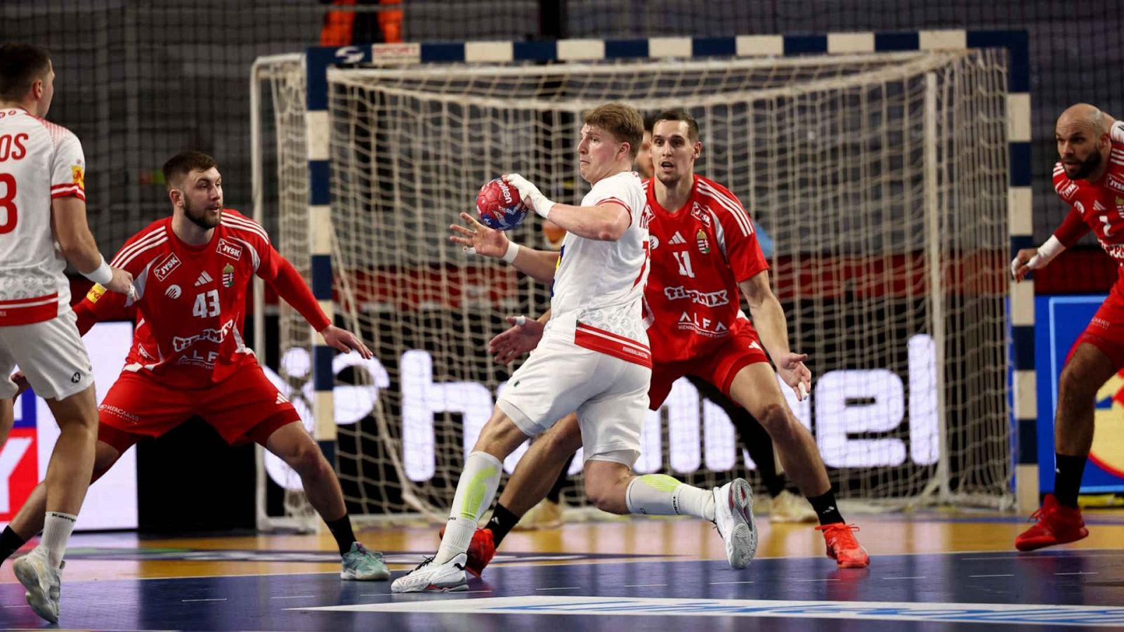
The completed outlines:
[[[653,211],[652,272],[644,290],[652,361],[692,360],[729,335],[741,312],[737,283],[769,264],[750,214],[722,184],[695,175],[691,196],[678,210],[660,206],[653,180],[644,189]]]

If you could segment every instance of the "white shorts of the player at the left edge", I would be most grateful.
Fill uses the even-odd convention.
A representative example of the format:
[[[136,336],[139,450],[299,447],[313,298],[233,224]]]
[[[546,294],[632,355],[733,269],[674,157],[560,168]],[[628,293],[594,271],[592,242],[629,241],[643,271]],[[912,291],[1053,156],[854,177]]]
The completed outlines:
[[[0,327],[0,398],[16,395],[16,365],[45,399],[66,399],[90,388],[93,369],[76,323],[67,312],[42,323]]]

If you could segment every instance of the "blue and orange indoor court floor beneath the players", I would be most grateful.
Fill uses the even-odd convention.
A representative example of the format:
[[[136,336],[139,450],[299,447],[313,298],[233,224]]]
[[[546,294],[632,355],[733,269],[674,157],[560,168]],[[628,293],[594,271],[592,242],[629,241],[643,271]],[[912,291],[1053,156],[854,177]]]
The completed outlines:
[[[60,626],[87,630],[1067,630],[1124,628],[1124,512],[1087,511],[1086,540],[1018,553],[1025,516],[849,516],[869,569],[837,569],[807,524],[758,522],[758,558],[732,570],[713,527],[632,520],[514,532],[468,593],[391,595],[343,581],[321,535],[76,534]],[[364,531],[392,578],[437,527]],[[55,626],[0,567],[0,628]]]

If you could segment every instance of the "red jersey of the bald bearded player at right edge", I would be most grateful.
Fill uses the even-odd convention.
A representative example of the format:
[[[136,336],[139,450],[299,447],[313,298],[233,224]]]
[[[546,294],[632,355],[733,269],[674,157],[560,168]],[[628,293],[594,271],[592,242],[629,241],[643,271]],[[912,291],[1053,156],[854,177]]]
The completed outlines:
[[[1096,182],[1070,180],[1062,164],[1054,164],[1054,190],[1070,205],[1054,236],[1068,247],[1091,229],[1124,272],[1124,121],[1114,123],[1109,136],[1108,169]]]

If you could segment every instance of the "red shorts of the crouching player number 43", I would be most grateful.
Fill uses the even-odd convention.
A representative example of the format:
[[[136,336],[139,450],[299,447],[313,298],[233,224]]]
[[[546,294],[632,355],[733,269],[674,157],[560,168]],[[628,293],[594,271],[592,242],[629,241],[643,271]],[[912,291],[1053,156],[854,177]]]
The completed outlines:
[[[158,378],[123,372],[98,407],[98,440],[125,452],[199,415],[230,445],[265,445],[273,431],[300,419],[256,362],[201,389],[170,388]]]

